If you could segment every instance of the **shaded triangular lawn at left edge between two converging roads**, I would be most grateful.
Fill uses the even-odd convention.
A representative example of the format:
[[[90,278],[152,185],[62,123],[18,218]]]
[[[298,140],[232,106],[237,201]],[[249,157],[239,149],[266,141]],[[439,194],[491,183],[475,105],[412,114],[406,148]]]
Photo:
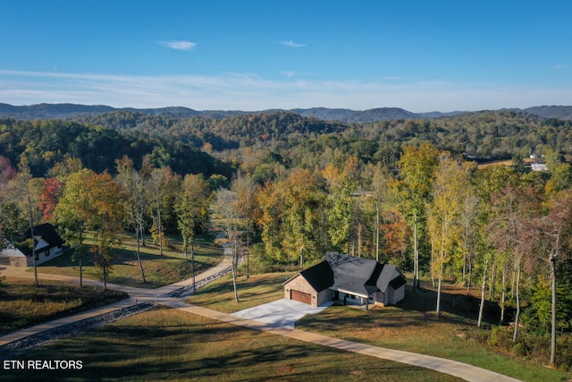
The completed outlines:
[[[127,293],[42,280],[4,280],[0,294],[0,334],[62,318],[127,298]]]

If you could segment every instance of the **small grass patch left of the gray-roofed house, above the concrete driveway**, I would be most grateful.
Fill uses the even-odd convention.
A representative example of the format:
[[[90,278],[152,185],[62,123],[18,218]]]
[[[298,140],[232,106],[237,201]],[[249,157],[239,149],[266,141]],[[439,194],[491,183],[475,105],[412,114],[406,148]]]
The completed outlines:
[[[248,278],[239,277],[237,279],[238,303],[234,301],[231,275],[224,276],[199,288],[197,294],[187,299],[187,302],[224,313],[245,310],[284,298],[282,283],[293,275],[295,273],[288,272],[250,276]]]

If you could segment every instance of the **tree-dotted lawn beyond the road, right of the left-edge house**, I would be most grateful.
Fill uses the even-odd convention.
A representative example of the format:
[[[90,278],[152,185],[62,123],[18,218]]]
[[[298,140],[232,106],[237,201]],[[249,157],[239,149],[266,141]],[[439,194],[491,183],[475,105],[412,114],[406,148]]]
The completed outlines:
[[[88,238],[86,243],[93,242]],[[172,243],[175,246],[179,244],[176,241],[172,241]],[[175,283],[191,275],[190,258],[184,259],[181,253],[171,250],[164,250],[164,255],[161,256],[158,246],[148,240],[147,246],[141,247],[141,260],[147,279],[147,283],[143,283],[135,250],[136,242],[126,236],[122,248],[114,250],[113,270],[107,278],[109,283],[156,288]],[[80,276],[79,262],[72,260],[72,252],[72,250],[68,250],[62,256],[38,266],[38,271],[57,275]],[[207,267],[214,266],[222,258],[223,249],[214,245],[210,238],[197,239],[195,244],[195,272],[200,273]],[[89,255],[83,260],[83,276],[96,280],[102,278]]]

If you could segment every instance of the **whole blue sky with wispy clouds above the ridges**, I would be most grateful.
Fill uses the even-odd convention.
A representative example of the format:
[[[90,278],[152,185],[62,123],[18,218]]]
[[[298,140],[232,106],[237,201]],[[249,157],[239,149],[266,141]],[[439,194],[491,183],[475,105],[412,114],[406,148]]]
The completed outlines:
[[[572,105],[569,0],[0,0],[0,102]]]

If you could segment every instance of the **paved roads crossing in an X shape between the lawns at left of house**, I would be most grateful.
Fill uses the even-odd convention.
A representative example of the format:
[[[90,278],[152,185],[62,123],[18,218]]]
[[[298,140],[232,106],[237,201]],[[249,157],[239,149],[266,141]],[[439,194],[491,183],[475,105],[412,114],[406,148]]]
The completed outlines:
[[[228,267],[229,267],[228,263],[223,261],[218,266],[212,267],[206,270],[206,272],[198,275],[196,277],[196,282],[200,280],[206,280],[220,273],[221,271],[223,271],[225,268]],[[5,276],[33,277],[33,274],[30,274],[29,272],[21,272],[17,269],[6,270],[6,268],[4,267],[0,268],[1,268],[0,276],[5,275]],[[78,277],[41,274],[40,278],[79,283]],[[86,280],[86,279],[84,279],[84,284],[94,284],[98,286],[103,286],[101,282],[94,280]],[[189,305],[182,299],[170,297],[170,293],[172,293],[175,290],[181,289],[182,287],[188,286],[189,284],[192,284],[192,279],[184,280],[179,283],[171,285],[166,285],[158,289],[142,289],[142,288],[138,289],[138,288],[130,288],[130,287],[124,287],[122,285],[108,283],[107,284],[108,288],[118,289],[130,293],[130,298],[123,301],[115,302],[114,304],[107,305],[103,308],[98,308],[96,310],[89,310],[87,312],[83,312],[67,318],[57,319],[55,321],[50,321],[35,327],[22,329],[20,331],[11,333],[9,335],[4,335],[0,337],[0,346],[3,344],[9,344],[13,341],[16,341],[18,339],[24,338],[29,335],[37,334],[47,329],[60,327],[66,324],[71,324],[81,319],[95,317],[109,311],[126,308],[134,305],[136,301],[139,302],[157,301],[158,299],[158,301],[161,304],[169,306],[171,308],[185,310],[188,311],[189,313],[198,314],[206,318],[216,319],[232,325],[249,327],[256,330],[262,330],[265,332],[273,333],[274,335],[283,335],[290,338],[298,339],[300,341],[305,341],[313,344],[321,344],[324,346],[330,346],[348,352],[357,352],[372,357],[382,358],[385,360],[396,361],[400,363],[406,363],[409,365],[414,365],[425,369],[433,369],[445,374],[450,374],[451,376],[466,379],[467,381],[472,381],[472,382],[492,382],[492,381],[517,382],[518,381],[515,378],[509,378],[499,373],[495,373],[493,371],[486,369],[477,368],[475,366],[467,365],[466,363],[458,361],[450,361],[424,354],[417,354],[413,352],[401,352],[367,344],[359,344],[351,341],[344,341],[332,337],[327,337],[325,335],[317,335],[303,330],[293,329],[291,327],[281,327],[272,324],[266,324],[264,322],[259,322],[247,318],[240,318],[230,314],[221,313],[214,310],[208,310],[194,305]]]

